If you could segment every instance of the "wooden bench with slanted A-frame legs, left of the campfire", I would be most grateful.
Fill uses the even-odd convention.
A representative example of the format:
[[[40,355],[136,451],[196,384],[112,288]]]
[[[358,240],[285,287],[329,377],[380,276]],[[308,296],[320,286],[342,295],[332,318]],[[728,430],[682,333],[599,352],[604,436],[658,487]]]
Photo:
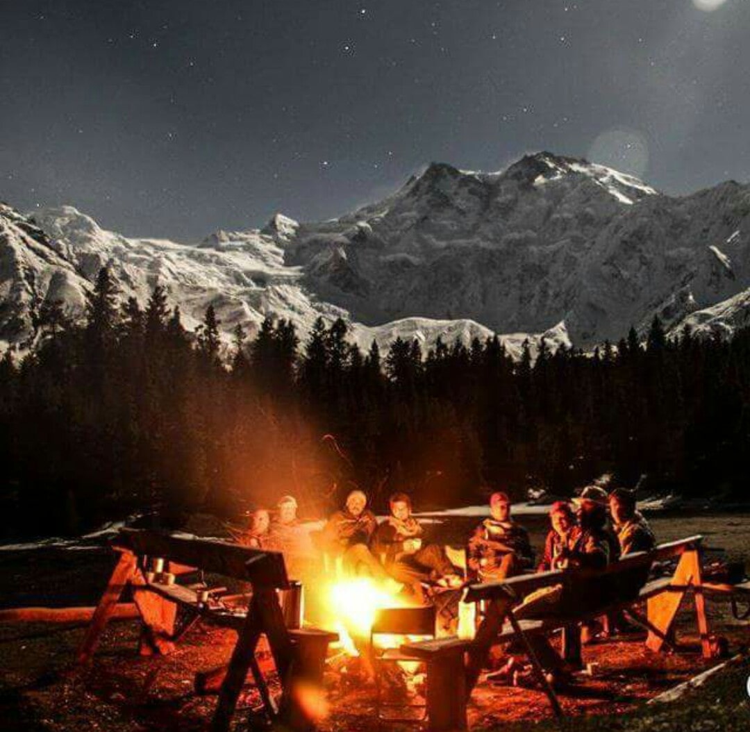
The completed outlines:
[[[212,732],[225,732],[236,709],[248,671],[263,701],[266,715],[292,730],[311,730],[314,719],[300,703],[299,688],[322,693],[323,664],[329,643],[338,635],[314,628],[289,629],[284,623],[278,590],[288,589],[284,556],[279,552],[251,549],[226,541],[196,538],[150,530],[121,529],[113,541],[120,558],[95,610],[91,625],[78,649],[78,661],[92,658],[107,620],[127,586],[142,619],[139,649],[142,653],[167,654],[184,628],[176,630],[178,607],[187,611],[188,622],[203,618],[237,633],[229,665],[212,673],[220,682],[219,699],[211,721]],[[148,558],[170,562],[170,569],[198,568],[250,583],[247,610],[228,610],[199,603],[196,589],[181,584],[147,581]],[[179,567],[175,566],[180,565]],[[277,705],[257,662],[255,653],[265,635],[281,680]],[[205,679],[204,679],[205,680]]]

